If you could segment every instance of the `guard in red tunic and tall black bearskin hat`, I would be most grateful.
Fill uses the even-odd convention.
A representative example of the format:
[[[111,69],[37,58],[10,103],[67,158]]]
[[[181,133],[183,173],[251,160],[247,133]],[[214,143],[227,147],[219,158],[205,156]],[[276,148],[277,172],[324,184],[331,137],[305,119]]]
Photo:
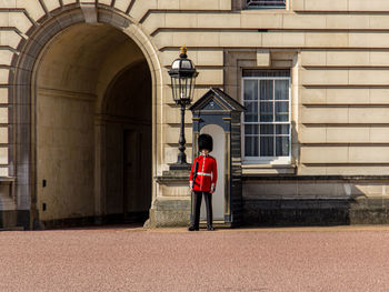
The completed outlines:
[[[188,230],[199,230],[201,199],[203,197],[207,207],[207,229],[212,231],[212,193],[218,180],[216,159],[209,155],[209,152],[213,149],[213,141],[211,135],[200,134],[198,142],[201,153],[194,159],[189,179],[190,190],[194,192],[194,214],[193,222],[191,222]]]

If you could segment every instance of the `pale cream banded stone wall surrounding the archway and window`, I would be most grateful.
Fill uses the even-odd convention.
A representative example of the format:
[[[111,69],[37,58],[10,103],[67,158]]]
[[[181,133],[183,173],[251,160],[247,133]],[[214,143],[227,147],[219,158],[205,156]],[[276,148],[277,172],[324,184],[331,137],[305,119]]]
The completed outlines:
[[[376,174],[387,171],[382,145],[387,141],[382,138],[386,135],[380,133],[388,130],[385,125],[386,89],[382,88],[387,83],[385,33],[388,28],[385,19],[375,13],[383,11],[386,4],[373,1],[366,7],[361,1],[343,0],[333,6],[328,1],[293,0],[287,11],[241,10],[231,13],[231,2],[156,0],[144,6],[142,1],[99,1],[101,7],[121,11],[139,23],[150,36],[158,50],[159,62],[164,68],[159,98],[162,107],[162,131],[158,140],[162,148],[160,171],[166,169],[167,163],[173,162],[177,153],[179,114],[170,100],[167,67],[183,43],[190,48],[189,57],[200,71],[197,97],[209,85],[225,85],[226,48],[298,51],[301,60],[297,97],[300,109],[296,120],[301,131],[298,133],[299,142],[303,144],[301,157],[297,158],[301,161],[299,171],[305,174],[322,174],[327,170],[333,174],[363,172],[365,165],[358,171],[356,163],[378,163],[378,168],[371,169]],[[72,3],[76,1],[2,1],[0,4],[11,9],[7,13],[1,12],[7,19],[4,24],[24,33],[49,11]],[[359,13],[349,14],[350,11]],[[9,48],[1,53],[2,63],[7,66],[11,64],[14,53],[11,48],[17,49],[21,37],[13,31],[1,33],[2,46]],[[7,84],[9,69],[1,69],[1,73]],[[7,104],[7,88],[1,92]],[[1,117],[8,120],[7,108],[3,108]],[[187,123],[190,139],[189,114]],[[7,127],[2,131],[6,139]],[[323,135],[323,132],[327,134]],[[7,139],[3,141],[8,143]],[[335,154],[329,158],[326,151]],[[360,153],[366,151],[370,154],[362,154],[365,158],[361,159]],[[317,155],[318,152],[322,154]],[[4,148],[2,171],[6,174],[7,153]]]

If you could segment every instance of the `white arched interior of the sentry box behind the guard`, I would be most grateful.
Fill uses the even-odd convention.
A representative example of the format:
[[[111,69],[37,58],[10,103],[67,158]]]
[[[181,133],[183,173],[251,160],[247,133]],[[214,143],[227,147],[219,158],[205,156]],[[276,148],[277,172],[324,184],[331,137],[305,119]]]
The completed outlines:
[[[220,125],[207,124],[201,129],[201,134],[210,134],[213,139],[213,151],[210,154],[218,165],[218,181],[212,194],[213,220],[225,220],[225,131]],[[202,200],[200,220],[207,220],[206,202]]]

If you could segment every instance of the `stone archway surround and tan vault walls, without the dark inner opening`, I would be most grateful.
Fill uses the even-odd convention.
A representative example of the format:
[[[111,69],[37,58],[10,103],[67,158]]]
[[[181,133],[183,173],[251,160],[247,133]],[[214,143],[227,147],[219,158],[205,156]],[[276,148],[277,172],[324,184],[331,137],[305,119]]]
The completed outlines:
[[[16,191],[19,198],[29,194],[24,200],[26,204],[30,203],[30,224],[39,218],[56,223],[67,218],[96,219],[107,215],[104,193],[107,184],[104,174],[99,171],[104,167],[102,163],[107,162],[99,159],[104,152],[100,143],[104,134],[101,131],[103,112],[100,111],[104,91],[122,68],[141,59],[148,63],[151,72],[150,100],[156,99],[160,69],[157,58],[153,57],[152,46],[142,39],[146,38],[144,34],[138,31],[132,36],[137,27],[129,19],[112,11],[99,10],[97,23],[86,23],[84,20],[81,9],[64,11],[49,19],[31,33],[30,41],[23,44],[22,53],[14,60],[18,64],[12,79],[16,101],[13,149],[14,173],[18,177]],[[113,51],[108,52],[110,48],[113,48]],[[131,52],[129,48],[132,48],[134,53],[129,53]],[[71,102],[64,104],[63,100]],[[59,120],[57,130],[62,134],[54,129],[51,129],[51,132],[44,129],[47,122],[52,122],[44,120],[50,117],[44,115],[44,111],[50,111],[48,105],[50,103],[53,105],[51,110],[56,107],[60,109],[54,118]],[[151,140],[156,140],[153,112],[154,109],[150,109]],[[68,114],[71,115],[71,127],[66,122]],[[82,151],[78,152],[74,149],[80,147],[81,140],[88,143],[82,144]],[[52,144],[46,145],[44,150],[43,141],[52,141]],[[62,145],[62,150],[59,145]],[[57,147],[59,149],[56,149]],[[69,149],[74,151],[71,152]],[[58,159],[61,153],[63,154],[61,152],[63,150],[67,151],[69,160]],[[150,151],[150,155],[154,151]],[[47,165],[42,159],[46,161],[52,159],[53,162]],[[63,168],[66,163],[68,164]],[[61,171],[67,169],[64,172],[68,174],[56,172],[56,165],[59,165]],[[80,165],[88,171],[78,169]],[[152,170],[156,171],[156,168],[152,167]],[[49,174],[41,175],[42,173]],[[50,181],[47,175],[51,175]],[[54,185],[57,189],[47,191]],[[44,198],[44,191],[40,191],[40,188],[48,193],[48,198]],[[50,193],[63,193],[61,198],[66,198],[66,202],[63,200],[58,202]],[[82,193],[83,197],[82,200],[80,198],[70,200],[64,193]],[[56,204],[57,207],[53,214],[44,218],[43,212],[50,208],[48,202],[51,208]],[[71,208],[63,213],[63,209],[68,207]]]

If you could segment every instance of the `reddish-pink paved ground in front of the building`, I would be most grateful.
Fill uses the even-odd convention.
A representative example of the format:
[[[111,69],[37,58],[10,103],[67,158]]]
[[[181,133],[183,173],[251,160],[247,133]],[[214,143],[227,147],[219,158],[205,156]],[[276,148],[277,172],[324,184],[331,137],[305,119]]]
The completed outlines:
[[[389,226],[0,232],[0,291],[389,291]]]

